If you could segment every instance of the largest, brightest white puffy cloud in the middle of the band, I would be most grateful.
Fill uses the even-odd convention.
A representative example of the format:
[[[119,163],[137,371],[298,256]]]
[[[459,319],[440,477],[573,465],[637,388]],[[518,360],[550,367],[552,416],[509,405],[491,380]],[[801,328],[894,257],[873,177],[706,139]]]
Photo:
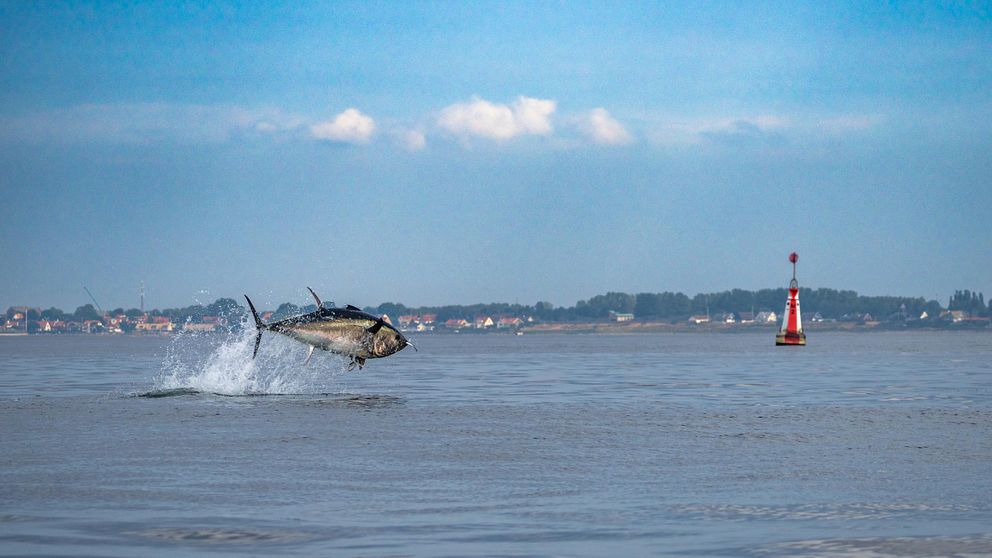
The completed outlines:
[[[507,140],[520,135],[548,135],[557,103],[547,99],[517,97],[512,105],[475,98],[441,110],[438,126],[458,136]]]

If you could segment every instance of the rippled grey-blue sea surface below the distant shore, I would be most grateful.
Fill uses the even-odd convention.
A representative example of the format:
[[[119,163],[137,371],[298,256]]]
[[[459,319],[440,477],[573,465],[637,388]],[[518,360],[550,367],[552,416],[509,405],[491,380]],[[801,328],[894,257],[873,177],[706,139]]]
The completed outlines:
[[[0,337],[0,555],[992,556],[992,334]]]

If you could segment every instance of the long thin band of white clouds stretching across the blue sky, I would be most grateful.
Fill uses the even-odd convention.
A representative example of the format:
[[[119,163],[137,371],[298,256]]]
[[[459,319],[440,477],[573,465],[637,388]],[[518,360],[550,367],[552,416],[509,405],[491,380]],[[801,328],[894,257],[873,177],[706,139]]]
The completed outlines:
[[[384,126],[352,107],[318,120],[278,107],[170,103],[84,104],[22,115],[0,112],[0,144],[217,144],[235,138],[275,141],[330,141],[367,145],[382,131],[389,144],[409,152],[427,147],[431,134],[463,142],[474,138],[509,141],[524,136],[561,136],[549,149],[584,145],[623,146],[637,138],[626,124],[597,107],[560,116],[549,99],[520,96],[511,103],[482,98],[455,103],[435,113],[433,125],[387,120]],[[635,122],[642,137],[656,146],[706,147],[863,136],[888,123],[884,114],[738,114],[685,117],[644,115]],[[416,122],[416,120],[414,120]],[[381,130],[380,130],[381,128]]]

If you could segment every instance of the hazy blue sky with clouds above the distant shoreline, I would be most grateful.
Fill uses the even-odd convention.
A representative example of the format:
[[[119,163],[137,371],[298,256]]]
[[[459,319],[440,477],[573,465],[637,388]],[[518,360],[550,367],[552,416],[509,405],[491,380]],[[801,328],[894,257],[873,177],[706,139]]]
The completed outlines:
[[[0,3],[0,306],[992,293],[988,3]]]

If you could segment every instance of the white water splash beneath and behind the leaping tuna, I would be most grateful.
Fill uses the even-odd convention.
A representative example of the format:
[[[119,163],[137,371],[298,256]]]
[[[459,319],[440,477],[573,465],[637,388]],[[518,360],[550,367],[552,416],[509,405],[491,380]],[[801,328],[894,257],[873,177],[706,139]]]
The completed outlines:
[[[331,391],[345,371],[342,357],[314,355],[303,366],[307,347],[280,335],[264,334],[252,359],[255,328],[228,333],[181,332],[166,349],[155,392],[220,395],[300,395]],[[318,351],[321,353],[321,351]]]

